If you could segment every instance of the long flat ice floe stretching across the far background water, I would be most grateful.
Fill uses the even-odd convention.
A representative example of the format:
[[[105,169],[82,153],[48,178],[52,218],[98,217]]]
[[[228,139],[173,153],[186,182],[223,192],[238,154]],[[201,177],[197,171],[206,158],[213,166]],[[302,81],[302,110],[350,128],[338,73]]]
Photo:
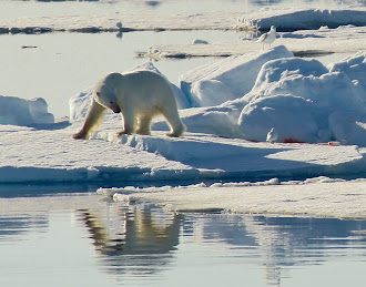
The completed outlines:
[[[182,14],[105,14],[1,19],[0,33],[128,32],[164,30],[268,30],[318,29],[322,25],[365,25],[366,8],[357,9],[271,9],[251,12],[207,12]],[[295,21],[294,21],[295,20]],[[122,23],[122,25],[118,24]]]

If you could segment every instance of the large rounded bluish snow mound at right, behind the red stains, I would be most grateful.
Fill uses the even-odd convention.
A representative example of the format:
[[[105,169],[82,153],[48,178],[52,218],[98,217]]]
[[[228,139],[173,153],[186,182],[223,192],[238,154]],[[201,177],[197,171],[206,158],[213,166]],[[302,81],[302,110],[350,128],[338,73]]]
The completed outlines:
[[[359,54],[347,61],[362,62]],[[337,140],[365,145],[364,90],[347,72],[353,78],[359,74],[349,64],[333,66],[334,72],[328,72],[316,60],[294,58],[266,62],[253,90],[243,98],[247,102],[238,119],[243,133],[265,141],[274,127],[278,142]],[[360,65],[356,66],[359,71]],[[346,132],[350,130],[354,133]]]

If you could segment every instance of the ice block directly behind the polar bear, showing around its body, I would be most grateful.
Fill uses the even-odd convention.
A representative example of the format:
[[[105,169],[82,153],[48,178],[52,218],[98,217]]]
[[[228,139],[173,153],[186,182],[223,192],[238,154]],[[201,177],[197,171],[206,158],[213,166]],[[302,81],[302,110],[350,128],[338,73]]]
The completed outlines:
[[[149,70],[149,71],[152,71],[152,72],[155,72],[155,73],[162,75],[162,73],[156,69],[156,66],[154,66],[154,64],[152,62],[145,62],[141,65],[138,65],[138,66],[131,69],[131,71],[135,71],[135,70]],[[175,84],[171,83],[171,85],[172,85],[179,109],[189,107],[189,101],[187,101],[185,94]],[[94,86],[90,86],[90,88],[81,91],[80,93],[73,95],[69,100],[70,121],[71,122],[83,120],[85,117],[90,103],[91,103],[91,100],[92,100],[93,89],[94,89]]]

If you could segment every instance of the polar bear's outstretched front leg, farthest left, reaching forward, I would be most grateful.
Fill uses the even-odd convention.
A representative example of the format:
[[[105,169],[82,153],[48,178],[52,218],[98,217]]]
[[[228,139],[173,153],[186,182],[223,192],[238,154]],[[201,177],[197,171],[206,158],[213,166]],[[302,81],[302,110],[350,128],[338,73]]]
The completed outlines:
[[[89,107],[85,121],[81,130],[75,133],[72,137],[75,140],[85,140],[89,136],[89,133],[98,126],[100,121],[103,119],[105,107],[99,104],[94,98]]]

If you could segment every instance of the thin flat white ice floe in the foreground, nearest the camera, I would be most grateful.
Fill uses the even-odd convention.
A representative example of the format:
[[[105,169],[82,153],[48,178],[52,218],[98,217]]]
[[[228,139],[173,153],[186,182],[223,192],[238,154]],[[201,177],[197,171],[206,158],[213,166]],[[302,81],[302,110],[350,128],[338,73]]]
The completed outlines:
[[[161,188],[100,188],[115,201],[153,202],[174,212],[228,212],[243,214],[312,215],[366,218],[365,180],[326,177],[305,182],[204,184]]]

